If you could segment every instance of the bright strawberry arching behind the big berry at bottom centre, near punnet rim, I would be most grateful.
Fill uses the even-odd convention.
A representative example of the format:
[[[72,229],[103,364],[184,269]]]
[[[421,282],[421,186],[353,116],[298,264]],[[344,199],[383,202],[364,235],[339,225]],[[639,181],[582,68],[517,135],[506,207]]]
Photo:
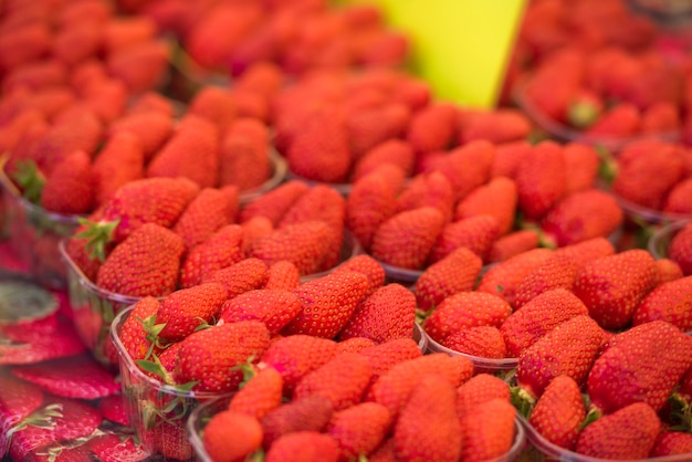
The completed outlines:
[[[418,384],[430,375],[440,375],[440,381],[447,381],[457,388],[473,375],[473,363],[445,353],[433,353],[397,363],[371,385],[365,401],[386,406],[397,419]],[[453,409],[454,405],[450,408]]]

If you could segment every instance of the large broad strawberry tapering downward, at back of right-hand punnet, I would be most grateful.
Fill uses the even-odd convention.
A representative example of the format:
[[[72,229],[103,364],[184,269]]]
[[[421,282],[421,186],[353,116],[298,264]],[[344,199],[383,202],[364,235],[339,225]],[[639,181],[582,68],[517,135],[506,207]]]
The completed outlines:
[[[585,264],[577,272],[574,293],[601,327],[617,329],[631,321],[657,277],[651,254],[633,249]]]

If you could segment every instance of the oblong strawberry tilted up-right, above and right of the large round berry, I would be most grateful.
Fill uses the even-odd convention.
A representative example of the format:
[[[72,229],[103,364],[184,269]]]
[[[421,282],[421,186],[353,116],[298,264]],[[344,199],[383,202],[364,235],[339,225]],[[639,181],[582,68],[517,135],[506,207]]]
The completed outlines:
[[[237,190],[205,188],[188,203],[172,230],[190,251],[224,225],[233,223],[238,208]]]

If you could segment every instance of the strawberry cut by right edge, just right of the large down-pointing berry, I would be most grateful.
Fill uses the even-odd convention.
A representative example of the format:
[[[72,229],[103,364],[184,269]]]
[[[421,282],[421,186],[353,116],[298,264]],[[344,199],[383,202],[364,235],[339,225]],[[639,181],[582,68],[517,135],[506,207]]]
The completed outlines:
[[[692,330],[690,308],[692,308],[692,276],[680,277],[658,285],[644,296],[635,311],[632,325],[661,319],[682,332]]]

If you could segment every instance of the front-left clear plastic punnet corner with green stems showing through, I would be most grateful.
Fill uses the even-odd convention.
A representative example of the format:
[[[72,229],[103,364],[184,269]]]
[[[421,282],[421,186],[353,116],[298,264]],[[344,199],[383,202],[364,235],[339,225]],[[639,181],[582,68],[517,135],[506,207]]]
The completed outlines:
[[[119,332],[133,307],[113,321],[111,336],[119,357],[125,412],[143,449],[156,460],[195,460],[186,424],[198,405],[230,393],[182,391],[145,375],[128,355]]]

